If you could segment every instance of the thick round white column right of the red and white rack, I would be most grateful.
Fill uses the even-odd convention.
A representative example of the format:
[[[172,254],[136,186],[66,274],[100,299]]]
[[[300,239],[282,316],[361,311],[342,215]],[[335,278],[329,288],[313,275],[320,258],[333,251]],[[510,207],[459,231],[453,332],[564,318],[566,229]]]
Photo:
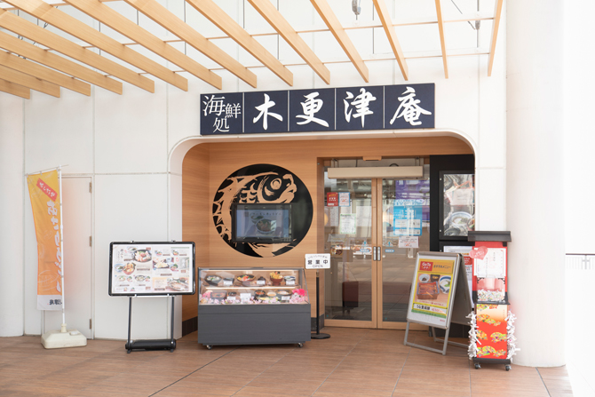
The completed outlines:
[[[514,362],[564,357],[563,3],[507,2],[507,224]]]

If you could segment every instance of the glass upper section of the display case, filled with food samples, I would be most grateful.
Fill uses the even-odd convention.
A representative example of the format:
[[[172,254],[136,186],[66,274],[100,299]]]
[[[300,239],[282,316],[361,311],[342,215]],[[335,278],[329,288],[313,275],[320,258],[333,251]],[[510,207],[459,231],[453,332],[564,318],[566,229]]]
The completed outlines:
[[[301,269],[201,269],[200,305],[303,305]]]

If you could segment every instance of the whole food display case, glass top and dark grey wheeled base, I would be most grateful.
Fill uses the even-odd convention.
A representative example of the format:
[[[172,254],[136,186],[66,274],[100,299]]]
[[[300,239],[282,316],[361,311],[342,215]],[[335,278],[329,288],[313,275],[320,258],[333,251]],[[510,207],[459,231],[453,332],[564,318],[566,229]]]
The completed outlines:
[[[199,269],[198,343],[296,343],[311,335],[303,268]]]

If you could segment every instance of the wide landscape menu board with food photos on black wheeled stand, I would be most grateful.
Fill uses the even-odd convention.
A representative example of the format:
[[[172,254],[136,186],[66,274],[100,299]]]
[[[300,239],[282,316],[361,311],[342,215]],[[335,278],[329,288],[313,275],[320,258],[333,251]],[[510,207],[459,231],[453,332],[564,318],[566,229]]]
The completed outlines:
[[[194,255],[194,242],[109,244],[108,293],[113,297],[129,297],[125,345],[128,353],[132,350],[174,351],[174,297],[195,292]],[[131,340],[133,297],[171,297],[171,339]]]

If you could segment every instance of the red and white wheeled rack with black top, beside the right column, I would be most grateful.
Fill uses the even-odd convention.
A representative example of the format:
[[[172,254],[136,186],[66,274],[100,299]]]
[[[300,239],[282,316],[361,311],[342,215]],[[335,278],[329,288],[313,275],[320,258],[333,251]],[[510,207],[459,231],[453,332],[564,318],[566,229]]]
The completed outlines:
[[[475,313],[469,354],[475,369],[481,363],[504,364],[511,369],[514,354],[512,321],[508,306],[507,242],[511,232],[469,232],[473,260],[472,298]]]

